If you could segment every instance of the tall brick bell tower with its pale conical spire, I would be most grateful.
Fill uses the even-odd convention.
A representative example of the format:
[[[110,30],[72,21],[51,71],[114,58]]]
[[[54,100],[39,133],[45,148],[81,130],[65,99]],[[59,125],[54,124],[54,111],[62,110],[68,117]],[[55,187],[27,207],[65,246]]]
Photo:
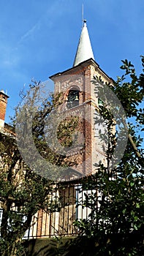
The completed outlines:
[[[95,114],[99,113],[99,101],[94,84],[91,83],[94,77],[101,78],[104,83],[113,84],[113,79],[109,78],[94,60],[86,20],[83,20],[73,67],[50,76],[55,84],[55,94],[63,94],[64,103],[60,113],[62,116],[64,113],[69,116],[64,120],[72,121],[73,118],[78,118],[76,132],[73,131],[74,135],[77,135],[77,142],[73,148],[71,145],[66,146],[66,158],[74,178],[90,175],[96,170],[95,164],[105,163],[105,151],[94,120]],[[64,127],[67,129],[65,124]]]

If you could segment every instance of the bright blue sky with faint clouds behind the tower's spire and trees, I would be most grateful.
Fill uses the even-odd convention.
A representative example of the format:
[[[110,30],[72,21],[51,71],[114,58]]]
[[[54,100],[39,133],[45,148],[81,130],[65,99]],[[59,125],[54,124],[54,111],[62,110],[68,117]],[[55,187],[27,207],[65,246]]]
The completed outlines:
[[[140,72],[144,45],[143,0],[1,0],[0,89],[10,96],[6,121],[19,91],[72,67],[84,18],[96,62],[113,79],[121,59]],[[50,90],[53,86],[50,86]]]

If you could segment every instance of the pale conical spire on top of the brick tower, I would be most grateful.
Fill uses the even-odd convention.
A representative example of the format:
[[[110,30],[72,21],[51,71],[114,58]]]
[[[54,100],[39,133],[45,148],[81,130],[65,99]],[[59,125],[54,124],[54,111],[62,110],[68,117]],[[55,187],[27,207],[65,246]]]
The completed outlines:
[[[91,58],[94,59],[94,54],[91,48],[91,41],[88,35],[86,20],[83,20],[83,29],[80,34],[80,40],[77,46],[77,53],[75,55],[75,61],[74,61],[73,67]]]

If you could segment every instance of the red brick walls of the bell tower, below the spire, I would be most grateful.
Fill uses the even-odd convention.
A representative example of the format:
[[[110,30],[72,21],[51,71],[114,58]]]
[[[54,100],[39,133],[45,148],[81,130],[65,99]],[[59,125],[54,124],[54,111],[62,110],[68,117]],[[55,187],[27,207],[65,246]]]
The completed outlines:
[[[69,69],[54,77],[55,92],[62,92],[65,100],[60,112],[65,111],[69,113],[69,116],[76,115],[80,118],[76,129],[83,133],[84,147],[81,151],[77,151],[77,148],[75,148],[73,154],[71,152],[69,155],[69,162],[71,161],[70,165],[73,169],[83,173],[84,176],[94,172],[95,163],[105,163],[105,151],[103,150],[102,140],[99,138],[99,129],[101,127],[97,126],[97,131],[95,129],[94,117],[96,111],[99,113],[99,108],[94,84],[91,83],[94,76],[101,78],[104,83],[111,83],[110,78],[96,64],[89,62],[85,66],[82,64],[81,67]],[[69,90],[74,87],[77,87],[80,91],[79,106],[67,109],[67,96]],[[80,116],[81,109],[83,109],[83,118]],[[72,162],[75,163],[73,166]]]

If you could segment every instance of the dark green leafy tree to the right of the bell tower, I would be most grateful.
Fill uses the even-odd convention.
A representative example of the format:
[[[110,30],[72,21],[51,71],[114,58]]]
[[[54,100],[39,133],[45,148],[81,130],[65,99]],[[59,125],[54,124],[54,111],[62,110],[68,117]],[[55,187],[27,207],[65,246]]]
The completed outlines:
[[[144,71],[144,57],[141,57]],[[94,255],[143,255],[143,92],[144,75],[136,75],[130,61],[122,61],[124,75],[118,77],[111,89],[121,101],[126,113],[128,143],[121,162],[113,170],[108,163],[115,149],[115,136],[111,127],[113,116],[105,108],[99,111],[109,133],[107,167],[99,165],[94,176],[83,181],[89,189],[84,207],[91,209],[88,219],[75,222],[80,233],[94,241]],[[93,80],[96,85],[96,80]],[[96,189],[96,190],[94,190]],[[80,203],[80,202],[79,202]],[[82,249],[83,251],[83,249]],[[82,252],[81,255],[86,255]],[[88,255],[91,255],[89,252]]]

